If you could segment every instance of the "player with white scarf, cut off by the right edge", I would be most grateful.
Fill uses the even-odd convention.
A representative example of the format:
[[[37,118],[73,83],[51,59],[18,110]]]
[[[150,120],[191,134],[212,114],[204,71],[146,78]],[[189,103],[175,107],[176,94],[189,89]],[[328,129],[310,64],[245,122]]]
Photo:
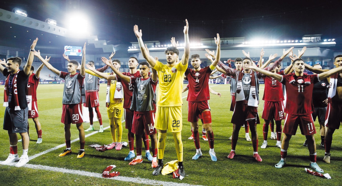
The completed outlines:
[[[334,65],[336,67],[334,69],[340,69],[342,67],[342,55],[335,56]],[[312,68],[310,70],[315,73],[324,73],[324,71],[327,71],[327,69],[320,70],[317,68]],[[321,74],[319,74],[319,76],[321,76]],[[323,161],[330,163],[332,134],[336,129],[340,128],[342,122],[342,73],[339,71],[339,73],[336,72],[331,74],[330,77],[327,78],[330,82],[330,88],[328,92],[328,109],[325,116],[325,126],[327,127],[327,131],[324,139],[325,155]]]

